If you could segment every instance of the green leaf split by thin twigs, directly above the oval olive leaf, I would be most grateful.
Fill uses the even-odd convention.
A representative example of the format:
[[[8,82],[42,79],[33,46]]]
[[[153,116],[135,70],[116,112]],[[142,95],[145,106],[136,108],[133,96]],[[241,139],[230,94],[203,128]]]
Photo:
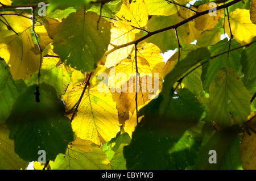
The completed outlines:
[[[230,49],[240,47],[241,45],[237,43],[236,40],[232,40]],[[229,41],[224,39],[219,41],[217,44],[214,44],[209,47],[211,56],[216,56],[222,52],[229,50]],[[238,71],[241,68],[240,57],[242,49],[237,49],[229,53],[228,67],[233,68],[235,71]],[[203,65],[203,71],[201,75],[201,80],[203,82],[204,90],[209,92],[209,85],[212,82],[213,78],[217,75],[218,70],[226,67],[226,60],[228,58],[228,53],[225,53],[221,56],[210,60],[207,64]]]

